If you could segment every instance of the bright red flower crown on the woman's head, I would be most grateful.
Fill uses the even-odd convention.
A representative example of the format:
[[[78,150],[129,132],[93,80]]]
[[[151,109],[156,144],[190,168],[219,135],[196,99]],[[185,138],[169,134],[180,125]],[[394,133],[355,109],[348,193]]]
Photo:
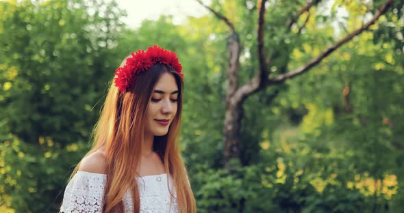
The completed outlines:
[[[137,75],[140,72],[147,72],[155,63],[163,63],[174,68],[175,71],[184,77],[181,73],[182,66],[179,63],[177,55],[173,51],[164,50],[160,46],[149,46],[147,51],[139,50],[131,53],[132,57],[126,59],[125,66],[115,70],[115,86],[119,91],[129,91],[136,83]]]

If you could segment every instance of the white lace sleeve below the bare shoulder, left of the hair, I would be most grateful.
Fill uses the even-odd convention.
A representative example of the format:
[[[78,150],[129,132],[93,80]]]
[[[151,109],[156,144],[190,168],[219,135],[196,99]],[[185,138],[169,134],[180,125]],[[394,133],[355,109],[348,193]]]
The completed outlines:
[[[77,171],[66,186],[61,213],[102,212],[106,175]]]

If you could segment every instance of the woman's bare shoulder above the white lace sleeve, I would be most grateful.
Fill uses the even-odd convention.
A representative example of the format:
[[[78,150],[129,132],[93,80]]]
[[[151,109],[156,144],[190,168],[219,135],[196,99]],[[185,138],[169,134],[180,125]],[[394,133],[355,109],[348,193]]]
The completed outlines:
[[[80,162],[79,171],[90,173],[107,173],[107,158],[103,152],[94,152]]]

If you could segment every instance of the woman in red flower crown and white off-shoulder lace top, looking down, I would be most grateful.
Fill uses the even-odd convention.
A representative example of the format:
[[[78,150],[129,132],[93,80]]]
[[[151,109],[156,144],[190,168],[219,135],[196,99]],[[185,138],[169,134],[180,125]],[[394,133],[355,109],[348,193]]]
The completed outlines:
[[[60,212],[196,212],[176,143],[181,70],[175,53],[159,46],[131,53],[116,69]]]

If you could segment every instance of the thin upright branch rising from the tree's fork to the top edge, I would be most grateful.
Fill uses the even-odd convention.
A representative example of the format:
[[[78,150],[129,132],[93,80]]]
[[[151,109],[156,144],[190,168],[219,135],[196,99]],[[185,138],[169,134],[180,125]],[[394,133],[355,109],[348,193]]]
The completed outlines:
[[[258,60],[260,61],[260,84],[264,85],[268,80],[268,69],[265,63],[264,53],[264,19],[265,19],[265,2],[266,0],[258,0]]]

